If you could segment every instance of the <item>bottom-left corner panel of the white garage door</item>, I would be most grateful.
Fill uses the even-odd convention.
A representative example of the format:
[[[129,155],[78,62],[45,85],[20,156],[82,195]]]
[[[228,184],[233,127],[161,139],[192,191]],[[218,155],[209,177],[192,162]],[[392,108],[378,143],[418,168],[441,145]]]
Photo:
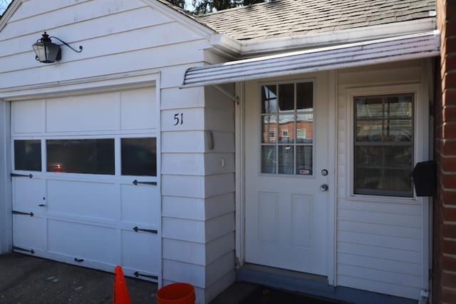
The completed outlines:
[[[14,215],[13,223],[15,247],[46,250],[46,218]]]

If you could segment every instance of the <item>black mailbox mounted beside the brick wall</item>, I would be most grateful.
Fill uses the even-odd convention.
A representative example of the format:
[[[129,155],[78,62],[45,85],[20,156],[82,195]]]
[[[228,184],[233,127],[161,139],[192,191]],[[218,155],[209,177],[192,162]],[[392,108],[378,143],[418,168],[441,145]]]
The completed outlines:
[[[417,196],[434,196],[436,186],[435,161],[422,161],[413,168],[413,183]]]

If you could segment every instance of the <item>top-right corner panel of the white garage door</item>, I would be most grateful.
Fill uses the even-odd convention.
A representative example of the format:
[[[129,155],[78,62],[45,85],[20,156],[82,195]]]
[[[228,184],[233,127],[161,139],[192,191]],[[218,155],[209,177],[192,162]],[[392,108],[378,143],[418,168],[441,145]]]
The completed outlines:
[[[155,90],[122,92],[120,105],[122,130],[157,128],[157,120],[149,114],[157,111]]]

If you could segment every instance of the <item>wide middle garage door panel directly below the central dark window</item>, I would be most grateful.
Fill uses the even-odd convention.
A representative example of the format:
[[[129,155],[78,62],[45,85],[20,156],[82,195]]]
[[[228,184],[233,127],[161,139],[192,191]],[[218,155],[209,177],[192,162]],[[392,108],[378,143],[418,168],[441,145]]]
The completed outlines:
[[[118,218],[115,183],[48,181],[48,211],[86,218]]]

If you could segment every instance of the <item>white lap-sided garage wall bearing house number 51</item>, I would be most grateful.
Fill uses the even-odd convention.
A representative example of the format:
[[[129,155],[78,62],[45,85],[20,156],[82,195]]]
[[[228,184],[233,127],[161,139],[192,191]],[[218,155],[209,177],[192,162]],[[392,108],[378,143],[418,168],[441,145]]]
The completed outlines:
[[[234,104],[212,89],[179,86],[187,68],[222,60],[204,54],[212,30],[153,0],[16,4],[0,24],[0,98],[113,89],[101,87],[107,78],[110,86],[147,86],[142,75],[160,74],[162,283],[192,283],[197,301],[208,303],[234,280]],[[82,53],[62,46],[61,61],[39,63],[31,44],[43,31]],[[206,130],[214,133],[212,151]],[[5,217],[8,203],[0,206]],[[0,243],[11,245],[2,229]]]

